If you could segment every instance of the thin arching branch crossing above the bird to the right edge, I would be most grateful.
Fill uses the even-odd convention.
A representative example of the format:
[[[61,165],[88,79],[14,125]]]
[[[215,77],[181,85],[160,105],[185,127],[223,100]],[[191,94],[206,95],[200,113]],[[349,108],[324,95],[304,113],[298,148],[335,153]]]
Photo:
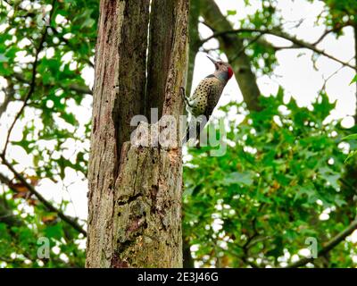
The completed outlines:
[[[355,66],[353,66],[352,64],[345,63],[344,61],[337,59],[333,55],[328,55],[325,51],[320,50],[319,48],[317,48],[313,44],[305,42],[305,41],[303,41],[301,39],[295,38],[294,36],[291,36],[291,35],[287,34],[286,32],[284,32],[282,30],[278,30],[278,29],[269,29],[269,30],[268,29],[248,29],[248,28],[247,29],[230,29],[230,30],[225,30],[225,31],[220,31],[220,32],[213,33],[212,36],[210,36],[208,38],[204,38],[201,41],[201,44],[205,43],[206,41],[209,41],[212,38],[219,38],[219,37],[226,36],[228,34],[237,34],[237,33],[260,33],[261,36],[269,34],[269,35],[276,36],[276,37],[279,37],[279,38],[285,38],[286,40],[289,40],[290,42],[295,44],[295,46],[293,48],[295,48],[295,47],[308,48],[311,51],[313,51],[313,52],[315,52],[315,53],[317,53],[319,55],[324,55],[324,56],[328,57],[329,59],[331,59],[331,60],[333,60],[333,61],[335,61],[337,63],[341,63],[341,64],[343,64],[345,66],[348,66],[349,68],[351,68],[353,70],[357,70],[357,68]],[[281,48],[283,48],[283,47],[280,47],[280,49]],[[285,47],[285,48],[292,48],[292,47],[288,46],[288,47]]]

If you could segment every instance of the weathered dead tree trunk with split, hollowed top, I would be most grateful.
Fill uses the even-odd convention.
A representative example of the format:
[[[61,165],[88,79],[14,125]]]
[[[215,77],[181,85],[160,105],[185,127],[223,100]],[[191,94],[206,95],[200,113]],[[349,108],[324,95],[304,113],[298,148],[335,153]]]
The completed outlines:
[[[141,136],[130,140],[130,120],[147,109],[160,107],[163,115],[179,122],[183,103],[179,88],[185,86],[187,70],[188,0],[165,1],[170,24],[160,27],[158,49],[150,61],[162,61],[148,69],[146,49],[149,0],[102,0],[95,53],[93,128],[89,160],[89,217],[87,267],[181,267],[182,159],[179,126],[169,146],[157,142],[148,130],[160,131],[162,122],[141,124]],[[163,4],[155,0],[152,5]],[[155,53],[151,55],[152,53]],[[157,55],[165,55],[162,59]],[[160,77],[160,74],[164,78]],[[162,85],[155,87],[155,85]],[[155,88],[153,88],[155,87]],[[164,90],[151,95],[150,90]],[[146,96],[145,96],[146,95]],[[147,98],[158,98],[158,105]],[[161,99],[162,98],[162,99]],[[145,129],[147,127],[147,129]],[[145,131],[146,130],[146,131]],[[150,143],[149,142],[149,143]]]

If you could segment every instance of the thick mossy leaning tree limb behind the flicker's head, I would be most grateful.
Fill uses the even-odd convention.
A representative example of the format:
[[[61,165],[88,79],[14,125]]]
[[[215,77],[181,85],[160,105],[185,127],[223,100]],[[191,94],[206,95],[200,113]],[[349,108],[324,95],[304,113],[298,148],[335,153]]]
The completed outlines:
[[[204,21],[206,21],[215,32],[233,29],[226,17],[220,12],[220,8],[214,0],[201,0],[201,7]],[[220,48],[226,53],[228,58],[235,58],[237,53],[242,51],[244,47],[242,39],[237,35],[225,35],[218,38],[218,40],[220,42]],[[237,57],[236,61],[230,64],[235,71],[238,86],[248,109],[254,111],[260,110],[259,97],[261,92],[256,83],[256,77],[252,71],[248,56],[242,53]]]

